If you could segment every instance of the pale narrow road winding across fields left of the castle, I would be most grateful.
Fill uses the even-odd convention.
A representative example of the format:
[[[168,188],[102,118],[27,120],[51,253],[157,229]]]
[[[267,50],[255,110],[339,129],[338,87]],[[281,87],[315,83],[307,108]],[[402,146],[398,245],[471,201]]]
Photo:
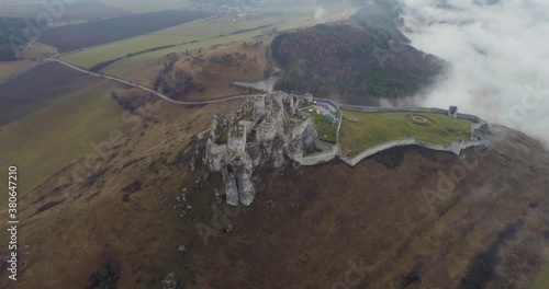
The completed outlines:
[[[91,72],[91,71],[88,71],[86,69],[81,69],[79,67],[76,67],[69,62],[65,62],[60,59],[56,59],[56,58],[48,58],[48,59],[45,59],[44,61],[48,61],[48,62],[57,62],[57,63],[60,63],[60,65],[64,65],[66,67],[69,67],[71,69],[75,69],[77,71],[80,71],[82,73],[86,73],[86,74],[89,74],[89,76],[94,76],[94,77],[98,77],[98,78],[104,78],[104,79],[109,79],[109,80],[112,80],[112,81],[115,81],[115,82],[119,82],[119,83],[122,83],[122,84],[126,84],[126,85],[130,85],[130,86],[134,86],[134,88],[137,88],[137,89],[141,89],[141,90],[144,90],[144,91],[147,91],[149,93],[153,93],[155,94],[156,96],[165,100],[165,101],[168,101],[170,103],[175,103],[175,104],[182,104],[182,105],[201,105],[201,104],[213,104],[213,103],[222,103],[222,102],[228,102],[228,101],[234,101],[234,100],[242,100],[242,99],[246,99],[246,97],[249,97],[249,96],[257,96],[257,95],[250,95],[250,94],[246,94],[246,95],[236,95],[236,96],[227,96],[227,97],[222,97],[222,99],[217,99],[217,100],[210,100],[210,101],[201,101],[201,102],[181,102],[181,101],[175,101],[157,91],[154,91],[149,88],[145,88],[143,85],[139,85],[139,84],[136,84],[136,83],[132,83],[130,81],[126,81],[126,80],[123,80],[123,79],[119,79],[119,78],[115,78],[115,77],[110,77],[110,76],[105,76],[105,74],[100,74],[100,73],[96,73],[96,72]]]

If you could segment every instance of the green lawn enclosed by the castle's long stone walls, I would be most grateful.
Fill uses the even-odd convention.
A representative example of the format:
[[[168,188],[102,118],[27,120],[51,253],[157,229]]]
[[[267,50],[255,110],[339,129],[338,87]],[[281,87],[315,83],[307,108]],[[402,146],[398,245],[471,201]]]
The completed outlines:
[[[417,140],[451,144],[452,140],[469,140],[471,120],[455,119],[436,113],[359,113],[343,111],[340,141],[344,154],[357,155],[382,142],[415,137]],[[412,116],[427,118],[427,124],[412,122]],[[356,117],[357,123],[348,120]]]

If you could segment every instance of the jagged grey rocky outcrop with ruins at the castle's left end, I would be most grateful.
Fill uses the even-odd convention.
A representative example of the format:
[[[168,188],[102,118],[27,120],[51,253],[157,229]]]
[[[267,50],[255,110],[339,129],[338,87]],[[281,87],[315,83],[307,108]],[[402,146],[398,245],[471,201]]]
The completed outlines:
[[[282,166],[284,152],[318,151],[318,134],[310,116],[298,109],[300,102],[305,99],[273,92],[250,97],[237,112],[213,117],[203,163],[221,173],[220,192],[227,204],[249,206],[256,196],[254,173],[258,167]],[[242,118],[251,118],[251,125],[243,125]]]

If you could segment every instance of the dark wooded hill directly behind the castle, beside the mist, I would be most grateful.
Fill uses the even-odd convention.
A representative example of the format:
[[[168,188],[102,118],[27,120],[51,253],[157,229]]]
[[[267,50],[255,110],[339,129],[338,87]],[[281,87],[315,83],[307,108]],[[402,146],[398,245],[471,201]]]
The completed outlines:
[[[282,33],[271,49],[284,71],[278,89],[356,104],[411,96],[446,67],[389,33],[352,23]]]

